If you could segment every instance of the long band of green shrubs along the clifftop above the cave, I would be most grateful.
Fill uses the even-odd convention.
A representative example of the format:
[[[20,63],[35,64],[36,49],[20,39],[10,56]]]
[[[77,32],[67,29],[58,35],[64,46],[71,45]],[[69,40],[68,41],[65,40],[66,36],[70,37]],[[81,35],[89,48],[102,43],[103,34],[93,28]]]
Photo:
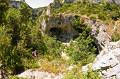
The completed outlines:
[[[101,4],[90,4],[88,3],[71,3],[63,4],[62,7],[55,9],[53,14],[59,13],[75,13],[78,15],[98,15],[100,20],[118,20],[120,18],[120,6],[116,4],[101,3]]]

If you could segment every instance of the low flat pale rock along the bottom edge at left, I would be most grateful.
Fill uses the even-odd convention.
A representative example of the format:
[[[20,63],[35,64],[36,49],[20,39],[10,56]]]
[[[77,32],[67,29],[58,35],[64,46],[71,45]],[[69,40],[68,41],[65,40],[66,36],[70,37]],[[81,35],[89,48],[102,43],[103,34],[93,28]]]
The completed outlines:
[[[63,75],[58,74],[55,75],[54,73],[43,72],[39,70],[27,70],[21,74],[17,75],[20,78],[27,78],[27,79],[62,79]]]

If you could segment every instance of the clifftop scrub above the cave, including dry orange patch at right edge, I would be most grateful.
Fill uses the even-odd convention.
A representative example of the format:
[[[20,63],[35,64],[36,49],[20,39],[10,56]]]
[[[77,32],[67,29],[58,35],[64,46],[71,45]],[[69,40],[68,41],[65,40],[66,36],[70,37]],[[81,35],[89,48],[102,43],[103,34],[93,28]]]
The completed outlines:
[[[113,30],[116,26],[119,26],[120,24],[119,23],[120,6],[114,3],[107,2],[101,2],[98,4],[92,4],[89,2],[66,3],[63,4],[62,7],[60,8],[53,9],[52,15],[57,14],[64,15],[72,14],[79,16],[87,16],[91,18],[91,20],[101,20],[109,25],[108,32],[110,32],[112,40],[117,41],[120,39],[119,27],[117,27],[116,30]]]

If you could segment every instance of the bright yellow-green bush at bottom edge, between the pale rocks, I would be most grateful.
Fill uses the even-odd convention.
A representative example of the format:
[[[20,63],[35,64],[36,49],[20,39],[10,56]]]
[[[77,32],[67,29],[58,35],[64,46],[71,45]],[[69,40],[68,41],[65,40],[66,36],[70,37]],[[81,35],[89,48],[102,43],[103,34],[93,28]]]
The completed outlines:
[[[79,67],[74,68],[72,71],[67,72],[63,79],[101,79],[97,71],[89,69],[88,72],[82,73]]]

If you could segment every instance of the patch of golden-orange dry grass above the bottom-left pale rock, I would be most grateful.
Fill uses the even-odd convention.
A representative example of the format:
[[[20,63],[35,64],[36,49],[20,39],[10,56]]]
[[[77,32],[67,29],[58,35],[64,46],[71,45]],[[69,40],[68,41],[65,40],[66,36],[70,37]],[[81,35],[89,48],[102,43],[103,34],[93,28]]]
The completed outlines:
[[[48,61],[47,59],[41,59],[39,60],[39,70],[40,71],[46,71],[49,73],[59,74],[64,73],[66,71],[66,65],[64,60],[54,60],[54,61]]]

